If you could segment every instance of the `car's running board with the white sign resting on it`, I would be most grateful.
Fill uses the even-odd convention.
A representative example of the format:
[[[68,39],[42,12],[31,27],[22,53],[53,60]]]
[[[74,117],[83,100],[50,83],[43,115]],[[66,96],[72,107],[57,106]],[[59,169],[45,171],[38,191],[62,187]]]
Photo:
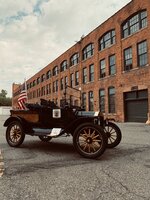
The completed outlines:
[[[61,128],[52,128],[52,129],[33,128],[33,135],[56,137],[59,136],[62,131],[63,129]]]

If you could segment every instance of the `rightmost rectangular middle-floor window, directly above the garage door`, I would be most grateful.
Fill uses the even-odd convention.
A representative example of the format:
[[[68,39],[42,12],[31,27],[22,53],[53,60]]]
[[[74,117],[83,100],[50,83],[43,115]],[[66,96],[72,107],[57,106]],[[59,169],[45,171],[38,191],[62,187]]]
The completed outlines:
[[[138,66],[142,67],[148,63],[148,54],[147,54],[147,41],[138,43]]]

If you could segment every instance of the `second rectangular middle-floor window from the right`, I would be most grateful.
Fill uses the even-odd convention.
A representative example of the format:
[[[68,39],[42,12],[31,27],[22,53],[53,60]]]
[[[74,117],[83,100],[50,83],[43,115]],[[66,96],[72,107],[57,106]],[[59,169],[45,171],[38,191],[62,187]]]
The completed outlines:
[[[124,50],[124,71],[132,69],[132,48],[129,47]]]

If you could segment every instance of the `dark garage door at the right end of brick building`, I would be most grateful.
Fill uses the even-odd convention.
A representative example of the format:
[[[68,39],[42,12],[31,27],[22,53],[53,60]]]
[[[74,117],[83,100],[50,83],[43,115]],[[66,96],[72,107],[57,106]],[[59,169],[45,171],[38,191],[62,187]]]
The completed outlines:
[[[148,113],[148,91],[139,90],[124,94],[125,121],[146,122]]]

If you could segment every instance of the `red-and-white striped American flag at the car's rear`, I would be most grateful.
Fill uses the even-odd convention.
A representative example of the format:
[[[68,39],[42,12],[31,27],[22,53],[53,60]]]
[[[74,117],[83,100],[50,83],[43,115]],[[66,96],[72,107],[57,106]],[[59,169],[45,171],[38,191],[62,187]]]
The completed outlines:
[[[25,105],[25,103],[27,102],[27,90],[26,90],[25,86],[26,85],[24,83],[22,85],[22,90],[21,90],[19,98],[18,98],[18,106],[19,106],[19,109],[21,109],[21,110],[27,109],[26,105]]]

